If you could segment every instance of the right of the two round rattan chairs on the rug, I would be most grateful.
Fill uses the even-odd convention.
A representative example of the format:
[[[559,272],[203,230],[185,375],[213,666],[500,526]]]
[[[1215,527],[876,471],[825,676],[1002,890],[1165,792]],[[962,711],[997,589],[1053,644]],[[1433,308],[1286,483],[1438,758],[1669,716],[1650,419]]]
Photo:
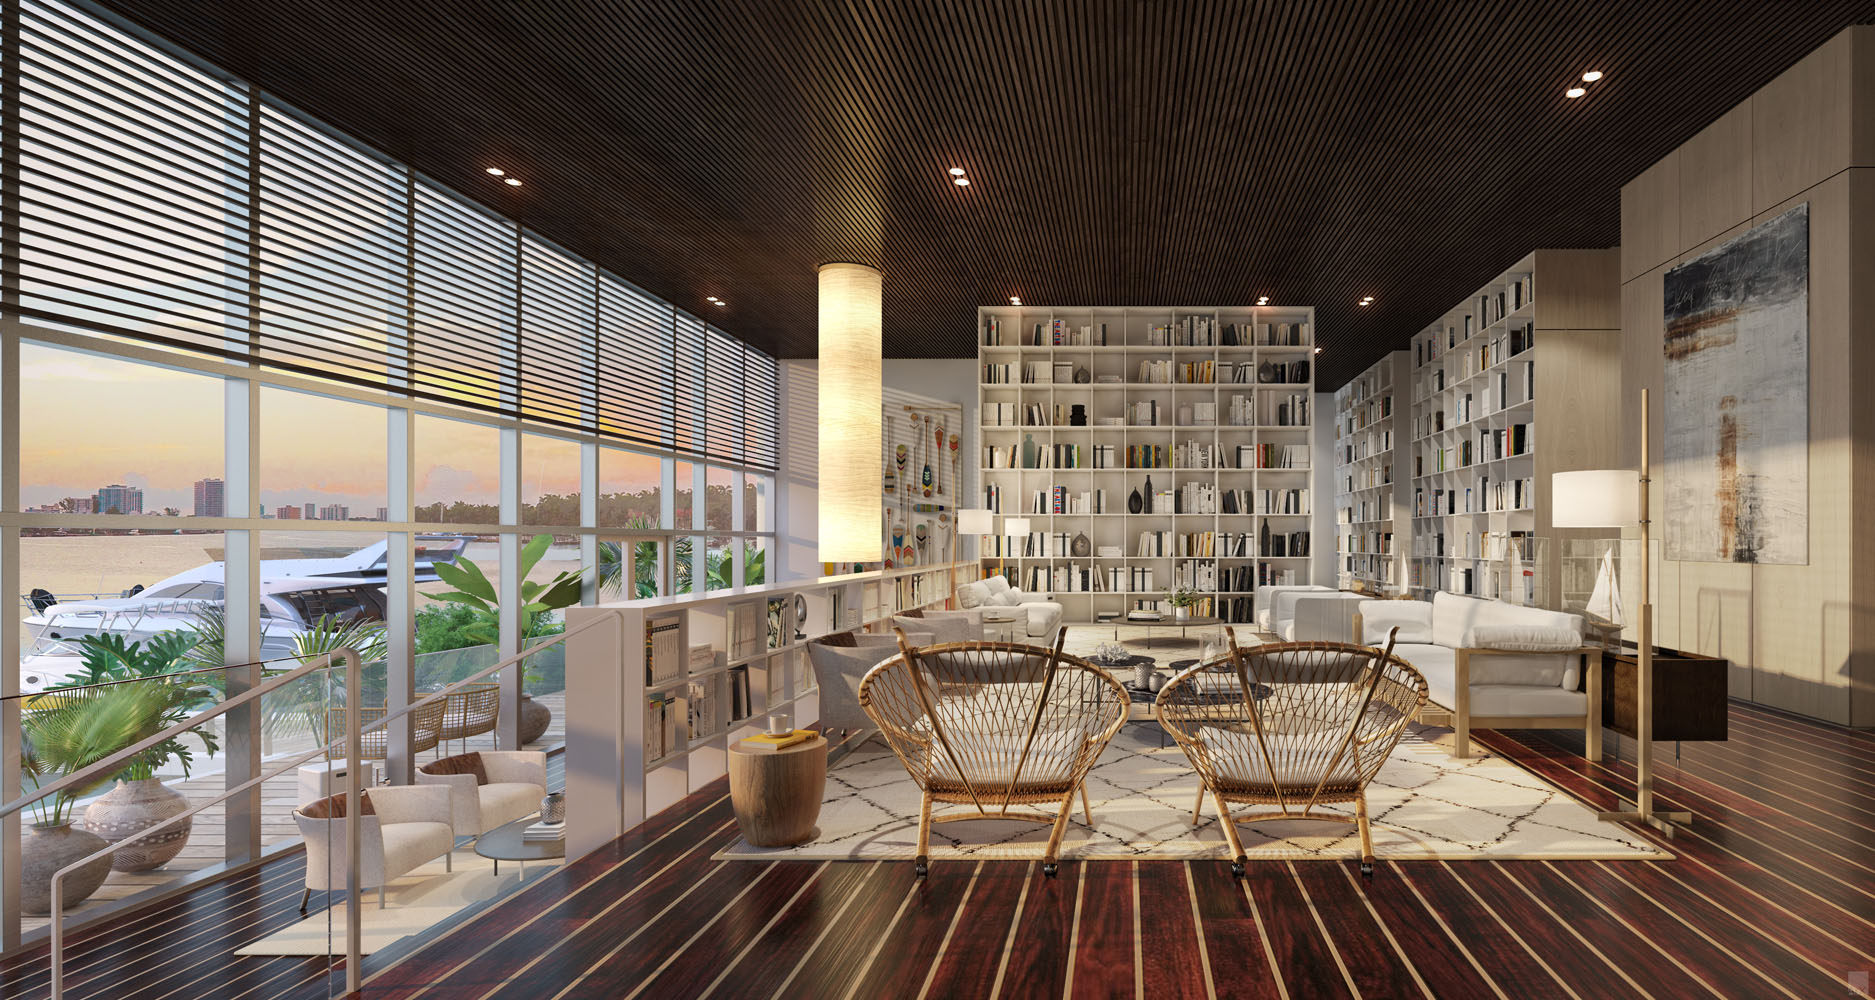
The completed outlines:
[[[1425,705],[1425,677],[1386,651],[1342,642],[1281,642],[1243,649],[1230,629],[1230,653],[1196,664],[1159,692],[1159,724],[1198,771],[1230,841],[1230,871],[1243,878],[1238,824],[1260,820],[1352,822],[1361,831],[1361,874],[1372,876],[1367,782],[1380,773],[1406,724]],[[1275,811],[1230,814],[1238,805]],[[1354,816],[1318,812],[1354,803]]]

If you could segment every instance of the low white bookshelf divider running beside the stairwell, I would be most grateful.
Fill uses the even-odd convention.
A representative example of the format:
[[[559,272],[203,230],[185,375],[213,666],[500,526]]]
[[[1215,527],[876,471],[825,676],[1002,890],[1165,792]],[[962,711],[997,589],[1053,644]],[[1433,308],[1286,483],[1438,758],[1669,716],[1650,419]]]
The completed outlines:
[[[975,578],[975,563],[956,567],[960,583]],[[804,621],[795,619],[795,595],[806,604]],[[906,608],[943,606],[949,597],[951,565],[934,563],[568,608],[568,629],[611,619],[566,640],[566,689],[581,692],[566,704],[570,856],[609,842],[726,775],[729,745],[761,732],[769,715],[788,713],[797,728],[814,724],[819,692],[797,632],[814,638],[874,627]],[[772,638],[769,602],[780,610]],[[679,649],[707,645],[711,655],[692,662],[684,653],[673,672],[654,670],[649,642],[666,634],[662,627],[675,627]],[[742,675],[748,696],[737,704],[731,689]],[[668,728],[652,711],[662,702],[671,704]]]

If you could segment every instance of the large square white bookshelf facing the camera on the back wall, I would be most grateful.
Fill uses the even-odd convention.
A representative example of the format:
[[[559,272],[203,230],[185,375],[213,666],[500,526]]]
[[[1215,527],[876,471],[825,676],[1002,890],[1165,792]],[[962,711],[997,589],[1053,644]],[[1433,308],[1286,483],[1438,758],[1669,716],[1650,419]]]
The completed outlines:
[[[1037,326],[1041,343],[1033,343]],[[1058,330],[1069,343],[1056,343]],[[1226,330],[1238,332],[1238,343],[1222,343]],[[1024,589],[1054,593],[1069,621],[1125,614],[1179,583],[1204,593],[1204,610],[1241,621],[1251,617],[1258,582],[1312,582],[1311,550],[1298,553],[1292,544],[1307,538],[1312,505],[1328,501],[1311,495],[1311,458],[1328,460],[1309,454],[1312,308],[990,306],[977,311],[977,343],[981,505],[999,514],[998,531],[1009,516],[1033,525],[1029,538],[1009,546],[1001,535],[984,538],[988,572],[1005,568]],[[1142,381],[1142,364],[1170,368],[1170,381]],[[1213,381],[1176,381],[1179,366],[1208,366],[1191,377]],[[1074,381],[1082,371],[1086,381]],[[1279,375],[1284,381],[1258,381]],[[1072,424],[1072,407],[1082,407],[1084,426]],[[1140,465],[1149,462],[1144,448],[1162,452],[1164,465]],[[1072,467],[1067,450],[1076,456]],[[1148,478],[1153,492],[1185,495],[1183,508],[1166,510],[1172,505],[1155,499],[1151,510],[1142,503],[1131,512],[1129,495],[1144,495]],[[1061,512],[1056,488],[1069,501]],[[1226,492],[1238,493],[1234,512],[1226,512]],[[1204,555],[1140,555],[1142,533],[1166,538],[1168,552],[1183,542]],[[1088,555],[1072,552],[1078,535],[1088,537]],[[1239,540],[1241,555],[1222,555]],[[1101,555],[1112,548],[1119,553]]]

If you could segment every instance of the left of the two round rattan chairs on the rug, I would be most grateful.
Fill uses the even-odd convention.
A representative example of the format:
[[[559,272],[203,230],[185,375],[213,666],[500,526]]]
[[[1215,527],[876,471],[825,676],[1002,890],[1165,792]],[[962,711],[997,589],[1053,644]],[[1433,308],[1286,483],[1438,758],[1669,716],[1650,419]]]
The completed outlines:
[[[1054,824],[1042,874],[1058,872],[1056,852],[1074,795],[1093,826],[1082,780],[1127,720],[1127,690],[1108,672],[1054,649],[1009,642],[952,642],[913,647],[898,632],[898,655],[859,681],[859,704],[879,726],[922,792],[917,876],[930,872],[930,827],[956,820]],[[932,818],[932,803],[971,812]],[[1054,805],[1054,816],[1012,811]]]

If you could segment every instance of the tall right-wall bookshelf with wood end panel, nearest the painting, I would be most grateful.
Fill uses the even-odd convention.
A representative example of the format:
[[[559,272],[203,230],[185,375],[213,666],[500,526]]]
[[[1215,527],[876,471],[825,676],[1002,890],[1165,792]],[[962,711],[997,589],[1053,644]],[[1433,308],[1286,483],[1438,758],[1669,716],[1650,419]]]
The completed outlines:
[[[1416,597],[1556,604],[1549,478],[1618,463],[1618,248],[1534,251],[1414,338]]]

